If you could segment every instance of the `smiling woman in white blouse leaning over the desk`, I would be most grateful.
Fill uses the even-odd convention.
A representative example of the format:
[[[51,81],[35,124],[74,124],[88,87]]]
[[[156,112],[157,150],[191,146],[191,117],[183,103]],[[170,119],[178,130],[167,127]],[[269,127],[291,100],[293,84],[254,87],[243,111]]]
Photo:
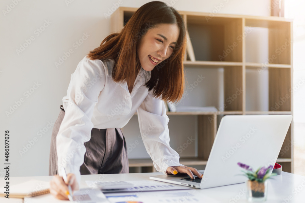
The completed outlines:
[[[81,174],[128,173],[120,128],[138,110],[146,151],[164,174],[202,174],[179,163],[169,146],[163,100],[176,102],[184,90],[185,23],[163,2],[141,6],[120,33],[107,36],[71,75],[67,95],[52,131],[50,193],[68,199],[61,167],[72,190]]]

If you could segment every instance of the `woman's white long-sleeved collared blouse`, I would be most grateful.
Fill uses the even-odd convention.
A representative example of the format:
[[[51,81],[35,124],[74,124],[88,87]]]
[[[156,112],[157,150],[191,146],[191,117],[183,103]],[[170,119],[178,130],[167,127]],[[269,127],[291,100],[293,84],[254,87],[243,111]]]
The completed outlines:
[[[129,93],[127,82],[113,81],[113,63],[85,56],[71,75],[63,97],[65,116],[56,137],[58,173],[61,176],[61,167],[65,167],[66,173],[76,175],[79,185],[84,142],[90,140],[92,128],[123,128],[137,110],[142,140],[156,170],[167,175],[168,166],[182,166],[179,154],[169,145],[164,102],[144,86],[151,72],[141,67]]]

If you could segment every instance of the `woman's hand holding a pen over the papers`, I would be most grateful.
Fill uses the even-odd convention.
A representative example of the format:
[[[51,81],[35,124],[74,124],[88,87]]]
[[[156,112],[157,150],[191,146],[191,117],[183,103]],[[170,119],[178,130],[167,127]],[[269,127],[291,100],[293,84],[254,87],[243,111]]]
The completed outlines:
[[[57,199],[69,200],[69,198],[68,198],[68,193],[69,193],[68,183],[69,182],[70,182],[69,185],[72,188],[72,194],[75,190],[79,190],[79,185],[77,183],[76,176],[74,173],[68,173],[67,180],[68,180],[68,182],[65,183],[65,181],[63,180],[63,177],[56,175],[50,181],[50,193]]]

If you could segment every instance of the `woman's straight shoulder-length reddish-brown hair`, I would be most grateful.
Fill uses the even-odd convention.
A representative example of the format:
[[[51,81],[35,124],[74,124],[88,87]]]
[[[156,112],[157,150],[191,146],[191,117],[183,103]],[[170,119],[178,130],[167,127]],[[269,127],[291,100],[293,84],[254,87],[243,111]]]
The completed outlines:
[[[152,95],[169,102],[181,100],[185,87],[183,57],[186,49],[185,22],[176,9],[164,2],[153,1],[142,5],[131,16],[120,32],[108,35],[101,45],[90,51],[88,58],[114,59],[112,78],[122,82],[132,78],[141,68],[137,56],[137,45],[143,35],[158,24],[177,24],[179,37],[169,58],[151,70],[151,77],[145,86]]]

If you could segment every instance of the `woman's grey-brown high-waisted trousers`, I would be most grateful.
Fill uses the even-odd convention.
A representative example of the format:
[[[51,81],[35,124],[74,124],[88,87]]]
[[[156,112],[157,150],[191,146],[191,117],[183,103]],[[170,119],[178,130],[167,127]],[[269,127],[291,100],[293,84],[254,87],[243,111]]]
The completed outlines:
[[[65,116],[63,105],[60,105],[60,109],[52,130],[49,176],[58,174],[56,136]],[[129,172],[126,142],[120,128],[92,128],[91,138],[84,146],[86,153],[84,163],[80,167],[81,175]]]

